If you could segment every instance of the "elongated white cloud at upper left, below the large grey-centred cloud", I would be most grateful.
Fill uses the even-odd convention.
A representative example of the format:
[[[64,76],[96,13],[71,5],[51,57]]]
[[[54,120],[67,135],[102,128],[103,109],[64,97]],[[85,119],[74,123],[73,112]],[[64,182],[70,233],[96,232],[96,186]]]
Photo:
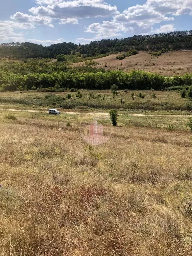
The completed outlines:
[[[22,12],[16,12],[14,15],[11,15],[11,19],[17,20],[19,22],[29,22],[38,25],[50,25],[52,22],[50,17],[33,16],[24,14]]]

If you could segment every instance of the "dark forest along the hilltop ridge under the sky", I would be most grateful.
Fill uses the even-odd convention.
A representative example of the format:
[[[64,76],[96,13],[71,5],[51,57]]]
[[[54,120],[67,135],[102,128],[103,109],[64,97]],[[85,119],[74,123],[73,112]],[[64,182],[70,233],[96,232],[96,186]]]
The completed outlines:
[[[100,56],[120,51],[144,50],[158,52],[164,50],[192,49],[192,30],[174,31],[153,35],[134,35],[124,39],[106,39],[81,45],[58,43],[43,46],[29,42],[0,44],[0,57],[10,59],[55,58],[56,55],[79,54],[83,58]]]

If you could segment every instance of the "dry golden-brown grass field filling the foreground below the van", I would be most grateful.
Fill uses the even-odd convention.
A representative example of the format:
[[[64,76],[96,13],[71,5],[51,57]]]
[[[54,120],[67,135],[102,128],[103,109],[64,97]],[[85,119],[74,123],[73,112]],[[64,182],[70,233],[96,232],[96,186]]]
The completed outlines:
[[[190,132],[122,123],[94,147],[79,119],[4,114],[0,255],[191,255]]]

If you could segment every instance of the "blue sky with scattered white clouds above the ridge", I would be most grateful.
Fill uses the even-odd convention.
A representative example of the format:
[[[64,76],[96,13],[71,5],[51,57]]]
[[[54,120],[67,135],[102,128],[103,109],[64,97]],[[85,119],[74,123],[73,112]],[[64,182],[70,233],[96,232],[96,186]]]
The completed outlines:
[[[192,30],[192,0],[5,0],[0,43],[95,40]]]

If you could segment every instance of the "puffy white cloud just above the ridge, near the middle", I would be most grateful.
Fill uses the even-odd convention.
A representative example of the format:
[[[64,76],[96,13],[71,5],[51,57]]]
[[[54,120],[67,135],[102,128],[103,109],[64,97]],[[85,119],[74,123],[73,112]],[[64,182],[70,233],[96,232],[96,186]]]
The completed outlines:
[[[103,21],[91,24],[85,32],[96,34],[95,39],[116,37],[122,35],[121,32],[133,32],[134,29],[121,23],[113,21]]]

